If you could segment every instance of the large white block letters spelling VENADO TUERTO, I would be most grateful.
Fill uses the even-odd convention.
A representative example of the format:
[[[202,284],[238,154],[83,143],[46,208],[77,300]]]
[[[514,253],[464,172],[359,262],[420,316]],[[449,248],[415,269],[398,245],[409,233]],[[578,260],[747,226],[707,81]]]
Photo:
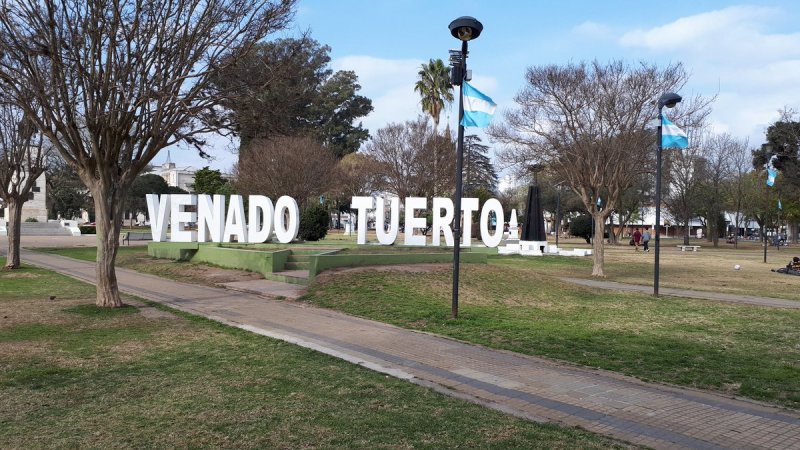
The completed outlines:
[[[390,198],[389,217],[386,223],[384,211],[387,199],[372,197],[353,197],[350,205],[358,211],[358,244],[367,243],[367,215],[375,210],[375,233],[378,242],[392,245],[400,231],[400,199]],[[167,240],[167,228],[171,227],[170,242],[237,242],[251,244],[265,242],[274,232],[278,242],[287,244],[297,238],[300,230],[300,210],[297,202],[283,196],[275,202],[263,195],[251,195],[247,198],[248,210],[245,215],[244,199],[241,195],[231,195],[226,211],[225,196],[194,194],[147,194],[147,212],[150,217],[150,230],[153,241]],[[461,216],[471,218],[478,210],[477,198],[461,200]],[[188,208],[191,207],[191,208]],[[411,246],[425,246],[427,237],[422,231],[427,228],[424,214],[428,209],[425,197],[408,197],[405,199],[405,239],[403,243]],[[196,212],[195,212],[196,211]],[[502,228],[492,234],[489,229],[489,214],[504,217],[503,207],[496,199],[487,200],[480,214],[481,240],[487,247],[497,247],[503,238]],[[420,217],[418,217],[420,216]],[[454,244],[452,223],[455,217],[453,201],[449,198],[433,199],[431,224],[431,244],[441,245],[444,235],[445,245]],[[247,221],[245,221],[245,218]],[[187,225],[197,223],[197,230],[188,229]],[[461,245],[472,245],[472,220],[463,224]]]

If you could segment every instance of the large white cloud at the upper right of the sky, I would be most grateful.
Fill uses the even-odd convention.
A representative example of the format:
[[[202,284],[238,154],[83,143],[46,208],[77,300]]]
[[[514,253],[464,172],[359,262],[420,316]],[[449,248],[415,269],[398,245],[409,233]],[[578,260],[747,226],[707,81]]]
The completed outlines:
[[[733,6],[630,30],[617,42],[683,62],[691,74],[687,90],[718,93],[713,129],[758,145],[777,110],[800,99],[800,33],[772,31],[784,14],[777,8]]]

